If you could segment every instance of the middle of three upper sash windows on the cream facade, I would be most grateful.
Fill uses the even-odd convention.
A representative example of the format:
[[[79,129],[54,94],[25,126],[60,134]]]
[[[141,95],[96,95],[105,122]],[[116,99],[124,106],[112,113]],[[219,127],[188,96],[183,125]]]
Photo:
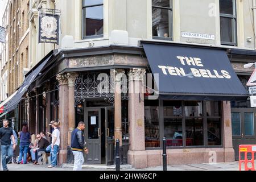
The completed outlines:
[[[172,40],[172,0],[152,0],[152,34]]]

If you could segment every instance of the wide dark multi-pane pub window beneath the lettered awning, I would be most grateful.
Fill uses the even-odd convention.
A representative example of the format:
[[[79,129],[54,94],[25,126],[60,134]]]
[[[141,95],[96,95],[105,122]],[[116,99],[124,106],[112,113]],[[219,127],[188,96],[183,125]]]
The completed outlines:
[[[218,101],[145,100],[144,115],[146,147],[160,147],[152,144],[155,140],[159,143],[159,137],[160,140],[166,138],[167,147],[222,144],[221,105]]]

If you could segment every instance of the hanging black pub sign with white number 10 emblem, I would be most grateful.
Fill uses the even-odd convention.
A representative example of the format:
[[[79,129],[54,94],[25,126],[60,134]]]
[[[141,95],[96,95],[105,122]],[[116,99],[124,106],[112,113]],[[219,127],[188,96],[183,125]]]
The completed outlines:
[[[59,23],[60,15],[39,13],[39,43],[59,44]]]

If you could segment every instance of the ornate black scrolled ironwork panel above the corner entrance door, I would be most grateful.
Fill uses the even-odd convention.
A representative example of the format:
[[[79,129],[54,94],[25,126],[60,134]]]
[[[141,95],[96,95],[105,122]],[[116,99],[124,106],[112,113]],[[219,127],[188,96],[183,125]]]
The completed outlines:
[[[75,105],[85,102],[86,98],[104,98],[114,104],[114,89],[110,81],[110,74],[86,73],[79,75],[75,82]],[[107,80],[106,80],[107,79]]]

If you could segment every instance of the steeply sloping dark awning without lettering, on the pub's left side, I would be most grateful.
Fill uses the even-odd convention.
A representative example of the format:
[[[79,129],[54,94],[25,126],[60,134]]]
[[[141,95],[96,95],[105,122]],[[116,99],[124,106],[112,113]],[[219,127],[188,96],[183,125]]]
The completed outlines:
[[[16,106],[19,104],[20,100],[22,100],[22,97],[24,93],[26,92],[28,86],[35,80],[36,76],[40,73],[40,71],[43,69],[43,67],[47,64],[49,59],[52,55],[48,56],[42,63],[39,65],[36,65],[35,69],[33,71],[30,71],[28,75],[26,75],[25,80],[23,81],[22,85],[20,86],[18,92],[15,94],[15,96],[7,102],[7,104],[4,106],[4,112],[9,112],[11,110],[14,110]]]

